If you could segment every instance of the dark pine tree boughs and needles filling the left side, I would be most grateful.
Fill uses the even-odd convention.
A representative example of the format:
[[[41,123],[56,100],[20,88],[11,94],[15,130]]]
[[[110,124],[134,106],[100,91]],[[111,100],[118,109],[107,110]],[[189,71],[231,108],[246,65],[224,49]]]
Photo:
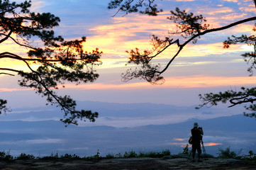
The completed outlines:
[[[60,18],[52,13],[33,13],[29,8],[31,1],[17,4],[9,0],[0,1],[0,43],[11,40],[16,45],[28,49],[27,56],[17,55],[15,50],[1,52],[0,59],[12,59],[23,62],[26,69],[18,70],[1,67],[0,74],[14,76],[18,74],[20,86],[35,89],[40,96],[45,96],[51,105],[60,106],[64,111],[63,123],[77,125],[77,120],[95,121],[98,113],[77,111],[76,102],[69,96],[58,96],[56,89],[60,85],[74,82],[87,83],[96,80],[95,67],[100,62],[102,52],[98,49],[92,52],[84,51],[81,40],[65,40],[56,36],[53,28],[59,26]],[[38,47],[34,41],[40,41]],[[31,65],[37,65],[33,69]],[[6,101],[0,100],[1,111],[7,111]]]

